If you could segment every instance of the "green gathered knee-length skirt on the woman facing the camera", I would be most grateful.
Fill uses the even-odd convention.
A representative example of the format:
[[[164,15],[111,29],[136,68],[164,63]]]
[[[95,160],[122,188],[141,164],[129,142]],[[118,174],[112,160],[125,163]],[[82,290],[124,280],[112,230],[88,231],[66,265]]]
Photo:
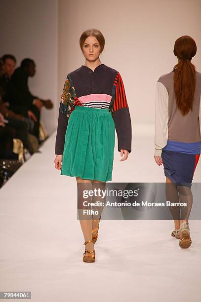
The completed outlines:
[[[75,106],[65,135],[61,175],[112,180],[115,123],[108,109]]]

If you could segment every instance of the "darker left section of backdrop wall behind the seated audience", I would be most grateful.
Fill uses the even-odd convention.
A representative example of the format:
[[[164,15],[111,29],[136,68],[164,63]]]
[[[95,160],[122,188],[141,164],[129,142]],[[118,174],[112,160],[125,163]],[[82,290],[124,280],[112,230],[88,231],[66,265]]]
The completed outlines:
[[[0,56],[5,53],[16,57],[17,66],[27,57],[36,62],[29,87],[34,95],[54,103],[52,110],[41,110],[51,134],[58,112],[58,1],[0,0]]]

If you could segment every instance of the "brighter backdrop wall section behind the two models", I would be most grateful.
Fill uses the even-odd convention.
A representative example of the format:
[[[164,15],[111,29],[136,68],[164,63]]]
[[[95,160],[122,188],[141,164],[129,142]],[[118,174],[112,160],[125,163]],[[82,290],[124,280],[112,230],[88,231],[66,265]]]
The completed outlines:
[[[177,63],[176,38],[196,40],[192,62],[201,72],[200,16],[200,0],[59,0],[60,94],[66,75],[84,64],[81,33],[97,28],[106,39],[101,62],[121,73],[132,123],[154,123],[156,81]]]

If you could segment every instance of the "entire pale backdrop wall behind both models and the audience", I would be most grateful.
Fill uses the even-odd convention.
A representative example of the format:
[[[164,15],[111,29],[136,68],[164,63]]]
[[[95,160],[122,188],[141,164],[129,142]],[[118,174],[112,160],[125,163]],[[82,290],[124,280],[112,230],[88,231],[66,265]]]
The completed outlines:
[[[64,80],[84,64],[79,38],[85,29],[105,36],[101,62],[121,73],[132,123],[140,129],[154,123],[156,81],[177,62],[176,38],[196,40],[192,62],[201,71],[200,0],[1,0],[0,11],[0,55],[13,53],[17,66],[33,58],[37,74],[29,78],[30,89],[54,102],[53,110],[41,113],[49,134],[57,125]]]

